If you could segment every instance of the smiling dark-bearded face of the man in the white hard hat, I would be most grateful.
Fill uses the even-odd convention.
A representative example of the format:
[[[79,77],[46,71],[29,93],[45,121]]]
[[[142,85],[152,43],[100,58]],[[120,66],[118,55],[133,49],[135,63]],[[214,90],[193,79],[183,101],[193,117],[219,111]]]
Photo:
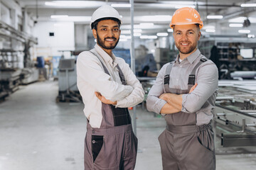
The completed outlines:
[[[117,21],[103,20],[97,23],[97,30],[93,29],[92,33],[97,38],[97,44],[110,55],[117,46],[121,30]]]

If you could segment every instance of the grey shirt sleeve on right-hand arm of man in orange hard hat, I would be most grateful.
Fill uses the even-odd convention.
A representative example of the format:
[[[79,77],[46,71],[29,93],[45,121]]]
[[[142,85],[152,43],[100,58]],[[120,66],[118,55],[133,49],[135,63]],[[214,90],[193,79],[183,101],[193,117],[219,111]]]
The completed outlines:
[[[182,95],[182,110],[186,113],[196,113],[208,98],[218,90],[218,69],[211,61],[207,61],[198,68],[196,89],[191,94]]]

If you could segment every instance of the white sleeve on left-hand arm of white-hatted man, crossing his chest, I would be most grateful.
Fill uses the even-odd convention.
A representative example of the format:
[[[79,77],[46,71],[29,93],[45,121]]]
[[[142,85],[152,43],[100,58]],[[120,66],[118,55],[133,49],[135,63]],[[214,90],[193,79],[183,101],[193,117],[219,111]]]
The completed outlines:
[[[82,52],[78,55],[77,74],[80,81],[85,81],[95,88],[95,91],[100,92],[110,101],[120,101],[132,93],[133,87],[129,85],[122,85],[116,81],[112,81],[109,74],[106,74],[97,57],[90,54],[90,52]],[[82,91],[86,86],[78,88]],[[87,95],[87,94],[81,94]]]

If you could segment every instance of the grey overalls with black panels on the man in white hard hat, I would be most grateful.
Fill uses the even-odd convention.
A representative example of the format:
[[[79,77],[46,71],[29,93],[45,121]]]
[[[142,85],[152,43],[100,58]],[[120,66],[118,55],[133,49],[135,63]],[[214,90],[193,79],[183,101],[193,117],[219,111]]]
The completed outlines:
[[[100,60],[95,50],[91,50]],[[110,74],[100,60],[106,74]],[[117,65],[122,84],[124,74]],[[93,76],[93,75],[92,75]],[[85,136],[85,170],[134,169],[137,157],[137,137],[134,135],[127,108],[102,103],[102,124],[92,128],[87,122]]]

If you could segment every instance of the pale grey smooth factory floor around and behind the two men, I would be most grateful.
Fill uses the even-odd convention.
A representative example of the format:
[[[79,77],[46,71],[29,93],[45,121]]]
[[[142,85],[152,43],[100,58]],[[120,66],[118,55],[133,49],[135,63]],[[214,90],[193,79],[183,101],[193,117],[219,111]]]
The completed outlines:
[[[82,170],[86,118],[82,103],[55,103],[57,81],[43,81],[11,94],[0,103],[1,170]],[[131,111],[133,113],[133,111]],[[161,170],[157,137],[164,119],[137,106],[139,150],[136,170]],[[133,115],[132,115],[133,116]],[[244,150],[232,154],[230,150]],[[250,152],[248,152],[250,150]],[[217,169],[256,169],[250,147],[217,148]],[[202,160],[203,161],[203,160]]]

